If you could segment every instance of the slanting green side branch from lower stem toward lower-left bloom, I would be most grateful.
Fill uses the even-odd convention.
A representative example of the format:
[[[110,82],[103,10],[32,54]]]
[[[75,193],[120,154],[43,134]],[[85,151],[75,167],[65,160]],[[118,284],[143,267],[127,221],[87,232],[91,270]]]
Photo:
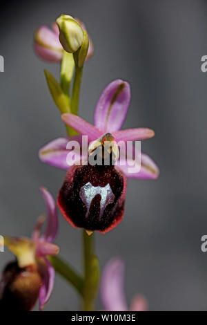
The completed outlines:
[[[61,257],[50,256],[48,259],[50,259],[52,266],[55,268],[55,272],[72,284],[79,295],[83,297],[83,279],[78,275],[77,271],[75,271],[66,261],[63,261]]]

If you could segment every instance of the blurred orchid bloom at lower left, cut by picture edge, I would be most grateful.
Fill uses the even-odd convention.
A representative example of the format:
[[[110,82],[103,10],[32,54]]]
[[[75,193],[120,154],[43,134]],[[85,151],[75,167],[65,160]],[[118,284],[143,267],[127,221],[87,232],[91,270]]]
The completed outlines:
[[[45,306],[55,281],[55,270],[48,256],[55,256],[59,247],[53,244],[58,229],[55,201],[45,187],[41,187],[47,210],[47,225],[40,234],[45,218],[41,216],[32,238],[4,237],[4,245],[17,257],[3,271],[0,281],[0,309],[32,310],[39,297],[40,310]]]

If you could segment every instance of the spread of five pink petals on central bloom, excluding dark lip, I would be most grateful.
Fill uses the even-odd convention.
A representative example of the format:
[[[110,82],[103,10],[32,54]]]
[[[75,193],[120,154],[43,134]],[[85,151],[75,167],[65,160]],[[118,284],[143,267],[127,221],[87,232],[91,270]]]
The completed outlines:
[[[138,128],[121,130],[121,126],[126,118],[128,106],[130,104],[130,85],[122,80],[111,82],[104,89],[95,109],[95,126],[84,121],[77,115],[65,113],[62,119],[66,124],[78,131],[81,136],[88,136],[88,141],[92,142],[110,132],[117,142],[120,140],[144,140],[152,138],[155,133],[151,129]],[[68,170],[66,146],[69,141],[78,141],[81,145],[81,136],[71,136],[57,138],[40,149],[39,158],[43,163],[48,163],[54,167]],[[80,158],[82,158],[80,156]],[[146,154],[141,154],[141,169],[137,173],[128,173],[128,165],[121,165],[118,160],[117,165],[122,169],[128,178],[155,179],[159,176],[159,169],[152,159]]]

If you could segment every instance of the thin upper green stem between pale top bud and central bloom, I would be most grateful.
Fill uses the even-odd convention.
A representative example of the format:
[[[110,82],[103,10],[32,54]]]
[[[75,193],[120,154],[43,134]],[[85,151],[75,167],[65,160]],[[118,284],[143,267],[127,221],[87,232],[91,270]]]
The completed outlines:
[[[81,77],[83,73],[83,67],[75,66],[75,77],[72,88],[72,98],[71,98],[71,111],[73,114],[78,115],[79,110],[79,95],[81,89]]]

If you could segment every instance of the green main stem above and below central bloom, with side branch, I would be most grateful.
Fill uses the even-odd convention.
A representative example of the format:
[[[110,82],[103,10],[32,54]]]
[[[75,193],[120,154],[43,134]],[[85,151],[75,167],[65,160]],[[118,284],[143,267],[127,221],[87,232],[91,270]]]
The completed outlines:
[[[65,68],[61,68],[61,71],[66,72],[66,65],[62,63]],[[70,101],[70,111],[78,115],[79,109],[79,95],[81,87],[81,77],[83,73],[83,67],[75,65],[75,77],[72,87],[72,98]],[[68,78],[70,79],[70,77]],[[69,100],[67,74],[61,77],[61,88]],[[71,80],[71,79],[70,79]],[[68,92],[68,93],[67,93]],[[67,129],[68,136],[77,134],[75,130]],[[99,261],[94,254],[94,235],[88,236],[86,230],[83,230],[83,279],[63,260],[52,257],[52,265],[55,267],[62,277],[72,284],[81,297],[83,298],[83,310],[90,311],[94,310],[94,301],[97,295],[97,288],[99,286]]]

